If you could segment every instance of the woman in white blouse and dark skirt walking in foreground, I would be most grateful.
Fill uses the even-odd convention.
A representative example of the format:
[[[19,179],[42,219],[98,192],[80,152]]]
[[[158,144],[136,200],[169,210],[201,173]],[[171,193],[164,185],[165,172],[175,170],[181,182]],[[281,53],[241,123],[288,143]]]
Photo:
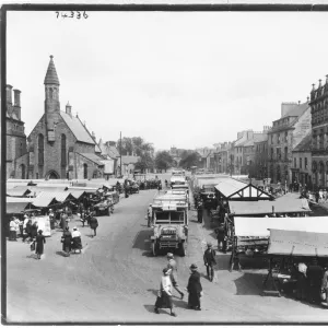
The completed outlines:
[[[171,269],[164,268],[154,312],[160,314],[159,308],[169,308],[171,315],[176,317],[176,314],[173,312],[172,281],[169,277]]]

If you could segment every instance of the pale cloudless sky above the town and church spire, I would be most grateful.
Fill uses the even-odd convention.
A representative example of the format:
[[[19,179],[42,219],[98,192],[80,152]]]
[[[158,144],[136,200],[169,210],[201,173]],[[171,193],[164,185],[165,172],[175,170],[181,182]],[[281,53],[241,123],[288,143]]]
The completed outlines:
[[[87,15],[8,12],[7,83],[22,91],[27,136],[44,113],[50,55],[61,110],[69,102],[97,140],[121,131],[157,150],[261,131],[328,74],[328,12]]]

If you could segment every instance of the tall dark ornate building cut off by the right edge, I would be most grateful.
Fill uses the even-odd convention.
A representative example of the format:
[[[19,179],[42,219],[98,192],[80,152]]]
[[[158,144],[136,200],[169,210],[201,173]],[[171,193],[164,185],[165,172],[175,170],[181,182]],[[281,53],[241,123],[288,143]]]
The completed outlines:
[[[315,187],[328,186],[328,75],[323,85],[311,92],[312,113],[312,172]]]

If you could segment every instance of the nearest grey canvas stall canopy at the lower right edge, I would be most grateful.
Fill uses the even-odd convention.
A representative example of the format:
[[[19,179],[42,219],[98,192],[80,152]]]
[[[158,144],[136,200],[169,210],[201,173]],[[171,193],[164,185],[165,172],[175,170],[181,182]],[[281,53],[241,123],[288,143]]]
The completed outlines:
[[[328,234],[271,229],[268,254],[328,257]]]

